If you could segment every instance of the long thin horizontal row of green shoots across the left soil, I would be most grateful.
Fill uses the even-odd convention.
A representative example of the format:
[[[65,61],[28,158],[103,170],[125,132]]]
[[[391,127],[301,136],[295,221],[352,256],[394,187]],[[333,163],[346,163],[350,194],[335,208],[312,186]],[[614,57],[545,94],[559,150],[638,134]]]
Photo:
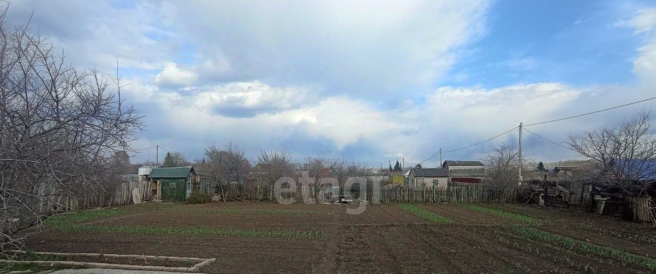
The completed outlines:
[[[215,235],[245,238],[280,238],[280,239],[321,239],[321,231],[276,230],[262,231],[255,229],[212,229],[209,227],[144,227],[133,225],[68,225],[58,227],[59,231],[75,233],[121,233],[143,235]]]

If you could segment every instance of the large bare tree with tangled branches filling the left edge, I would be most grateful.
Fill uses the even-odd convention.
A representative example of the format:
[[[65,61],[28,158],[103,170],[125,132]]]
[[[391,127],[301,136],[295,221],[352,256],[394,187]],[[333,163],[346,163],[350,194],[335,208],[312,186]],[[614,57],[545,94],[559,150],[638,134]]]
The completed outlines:
[[[142,128],[96,70],[80,71],[0,14],[0,249],[57,210],[60,196],[112,191],[112,155]]]

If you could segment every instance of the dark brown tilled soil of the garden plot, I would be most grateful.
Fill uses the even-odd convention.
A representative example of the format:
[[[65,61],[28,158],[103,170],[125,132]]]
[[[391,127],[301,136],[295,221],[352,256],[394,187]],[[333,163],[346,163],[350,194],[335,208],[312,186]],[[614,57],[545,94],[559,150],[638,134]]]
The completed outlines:
[[[48,252],[95,252],[216,258],[204,273],[649,273],[644,265],[613,256],[567,250],[519,237],[513,225],[656,257],[653,229],[591,214],[529,206],[493,206],[539,217],[541,225],[474,212],[457,204],[415,204],[448,217],[448,224],[369,204],[363,214],[350,205],[279,205],[264,202],[128,206],[129,214],[87,222],[112,227],[206,227],[256,231],[323,231],[321,239],[272,239],[213,235],[143,235],[33,231],[28,248]],[[600,232],[599,228],[612,229]],[[614,232],[613,232],[614,231]],[[647,235],[637,239],[631,235]]]

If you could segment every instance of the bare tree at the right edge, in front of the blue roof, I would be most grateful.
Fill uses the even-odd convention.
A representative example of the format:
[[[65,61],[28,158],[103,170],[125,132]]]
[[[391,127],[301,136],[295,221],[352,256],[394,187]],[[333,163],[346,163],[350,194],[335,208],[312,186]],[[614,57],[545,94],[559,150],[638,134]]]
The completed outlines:
[[[625,217],[632,216],[632,200],[656,175],[656,136],[649,112],[639,112],[618,127],[602,127],[569,135],[569,147],[590,158],[600,172],[596,181],[615,187],[625,195]]]

